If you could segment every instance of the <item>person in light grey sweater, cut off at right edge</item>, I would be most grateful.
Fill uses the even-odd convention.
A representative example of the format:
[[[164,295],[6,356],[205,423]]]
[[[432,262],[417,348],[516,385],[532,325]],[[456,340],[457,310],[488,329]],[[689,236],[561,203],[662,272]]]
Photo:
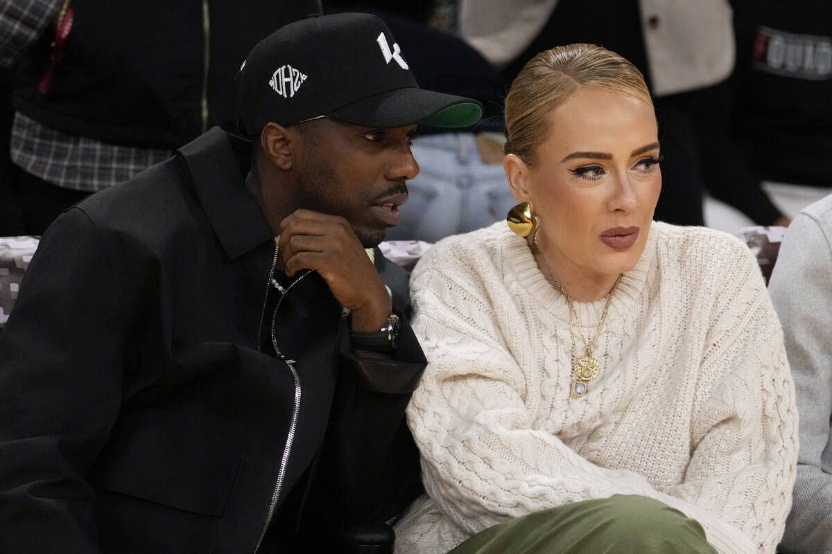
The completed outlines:
[[[832,416],[832,248],[824,228],[806,214],[789,227],[770,292],[795,377],[800,455],[794,505],[783,546],[787,552],[832,552],[832,474],[823,462]]]

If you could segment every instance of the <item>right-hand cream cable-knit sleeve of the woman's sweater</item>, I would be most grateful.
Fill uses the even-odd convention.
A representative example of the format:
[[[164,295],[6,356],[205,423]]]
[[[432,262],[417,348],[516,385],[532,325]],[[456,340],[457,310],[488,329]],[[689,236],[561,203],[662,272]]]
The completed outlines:
[[[706,507],[775,552],[791,504],[797,453],[795,387],[783,333],[760,275],[742,244],[715,276],[691,426],[691,461],[666,491]],[[735,254],[735,255],[730,255]]]

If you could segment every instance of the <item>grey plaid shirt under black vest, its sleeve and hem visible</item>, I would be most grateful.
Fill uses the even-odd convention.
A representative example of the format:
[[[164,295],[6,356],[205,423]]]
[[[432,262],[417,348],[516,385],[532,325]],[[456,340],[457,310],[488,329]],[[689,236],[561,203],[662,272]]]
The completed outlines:
[[[20,52],[37,41],[61,4],[62,0],[0,2],[0,66],[12,66]],[[69,135],[18,112],[12,124],[11,154],[15,164],[48,183],[95,192],[130,179],[173,152]]]

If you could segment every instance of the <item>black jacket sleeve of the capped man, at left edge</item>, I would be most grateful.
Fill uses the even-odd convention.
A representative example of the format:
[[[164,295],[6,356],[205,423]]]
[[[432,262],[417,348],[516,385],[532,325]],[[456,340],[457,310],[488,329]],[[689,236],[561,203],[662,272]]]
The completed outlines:
[[[85,479],[121,401],[110,261],[72,208],[44,234],[0,339],[0,552],[99,552]]]

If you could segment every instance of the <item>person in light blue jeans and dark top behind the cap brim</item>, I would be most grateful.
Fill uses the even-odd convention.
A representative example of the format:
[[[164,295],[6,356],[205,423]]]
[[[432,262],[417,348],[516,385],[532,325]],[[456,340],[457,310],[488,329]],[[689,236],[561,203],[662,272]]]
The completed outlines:
[[[388,238],[435,243],[503,218],[513,199],[502,164],[504,93],[497,72],[460,37],[429,27],[433,2],[384,9],[379,5],[389,2],[349,3],[324,2],[324,11],[337,7],[382,17],[410,52],[408,65],[419,83],[474,98],[485,110],[483,120],[468,129],[419,126],[413,152],[421,170],[409,184],[409,209]]]

